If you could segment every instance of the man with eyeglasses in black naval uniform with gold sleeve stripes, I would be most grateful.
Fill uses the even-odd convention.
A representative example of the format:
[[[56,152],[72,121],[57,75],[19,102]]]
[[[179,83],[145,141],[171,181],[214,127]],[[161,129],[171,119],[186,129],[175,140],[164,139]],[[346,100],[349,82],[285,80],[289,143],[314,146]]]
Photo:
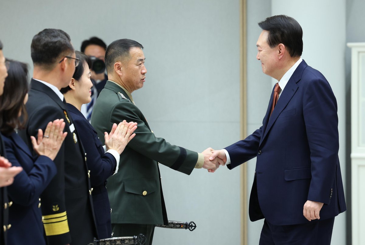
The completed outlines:
[[[87,156],[78,140],[64,96],[59,91],[68,86],[80,61],[76,58],[69,35],[56,29],[45,29],[34,36],[31,57],[34,71],[26,104],[28,122],[19,135],[32,150],[30,136],[37,136],[38,129],[44,132],[49,121],[63,118],[67,132],[54,159],[57,175],[41,194],[40,207],[47,243],[89,244],[96,237],[96,227]]]

